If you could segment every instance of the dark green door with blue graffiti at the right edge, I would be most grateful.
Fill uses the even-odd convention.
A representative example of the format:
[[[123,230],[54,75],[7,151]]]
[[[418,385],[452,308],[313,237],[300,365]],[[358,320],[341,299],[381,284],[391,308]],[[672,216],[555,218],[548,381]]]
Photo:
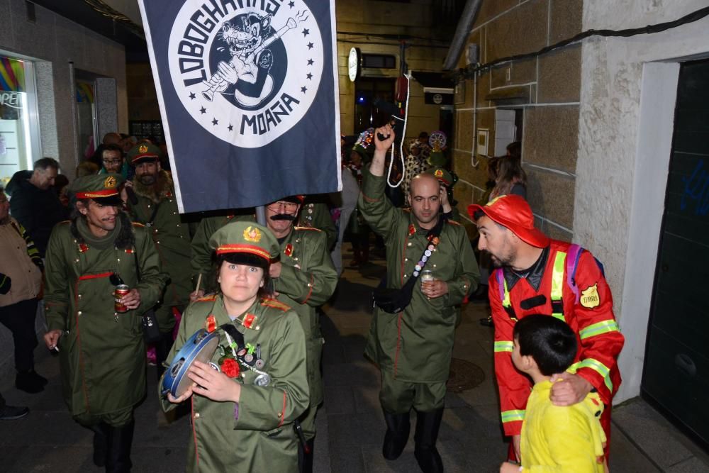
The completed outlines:
[[[709,60],[680,69],[642,395],[709,445]]]

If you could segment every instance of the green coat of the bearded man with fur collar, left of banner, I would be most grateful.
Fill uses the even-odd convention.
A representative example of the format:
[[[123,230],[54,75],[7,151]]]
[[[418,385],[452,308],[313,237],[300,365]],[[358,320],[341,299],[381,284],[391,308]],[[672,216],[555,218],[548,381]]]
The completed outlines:
[[[159,196],[149,195],[138,184],[133,185],[138,204],[128,201],[128,211],[133,221],[143,223],[155,242],[157,254],[160,255],[162,270],[169,274],[169,284],[161,299],[162,306],[184,306],[189,303],[189,294],[194,290],[190,272],[190,236],[189,224],[182,221],[177,209],[177,199],[174,197],[174,188],[169,174],[160,172],[162,191]],[[151,216],[157,206],[155,218]],[[159,310],[157,323],[162,332],[172,330],[174,317],[168,310]]]

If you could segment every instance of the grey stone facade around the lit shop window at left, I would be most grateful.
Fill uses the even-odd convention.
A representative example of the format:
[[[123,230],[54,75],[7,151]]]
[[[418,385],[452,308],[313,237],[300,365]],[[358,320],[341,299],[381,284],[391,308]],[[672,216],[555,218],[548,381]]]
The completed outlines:
[[[114,108],[118,131],[126,132],[125,51],[122,45],[52,11],[35,6],[35,12],[36,21],[30,22],[26,18],[25,1],[0,0],[0,50],[38,60],[42,155],[59,160],[64,172],[74,177],[79,156],[74,144],[69,63],[75,69],[116,79],[115,102],[108,105]]]

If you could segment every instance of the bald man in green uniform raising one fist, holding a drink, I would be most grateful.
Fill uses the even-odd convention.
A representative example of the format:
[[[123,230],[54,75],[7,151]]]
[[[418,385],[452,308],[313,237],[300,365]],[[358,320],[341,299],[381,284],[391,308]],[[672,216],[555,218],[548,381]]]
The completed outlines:
[[[450,373],[455,306],[476,289],[480,274],[465,229],[440,213],[445,190],[432,174],[411,179],[410,211],[386,198],[384,161],[394,131],[386,125],[374,135],[372,165],[362,169],[359,209],[384,238],[386,294],[398,299],[396,306],[377,300],[364,352],[381,372],[379,401],[387,427],[382,454],[387,460],[401,455],[413,408],[416,461],[424,472],[442,472],[436,440]],[[432,281],[418,281],[424,267],[432,272]]]

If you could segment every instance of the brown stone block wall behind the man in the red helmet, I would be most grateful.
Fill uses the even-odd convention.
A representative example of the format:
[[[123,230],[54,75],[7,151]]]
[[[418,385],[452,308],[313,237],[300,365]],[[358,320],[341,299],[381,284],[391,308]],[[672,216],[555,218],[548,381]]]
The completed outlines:
[[[581,32],[581,0],[483,1],[468,44],[479,45],[479,62],[535,52]],[[461,54],[458,67],[465,67]],[[481,198],[493,156],[496,109],[523,113],[522,160],[527,198],[537,226],[571,240],[578,149],[581,47],[516,60],[465,79],[464,103],[456,105],[454,171],[459,210]],[[474,124],[475,123],[475,124]],[[475,129],[474,129],[475,128]],[[477,130],[489,129],[489,151],[474,150]]]

